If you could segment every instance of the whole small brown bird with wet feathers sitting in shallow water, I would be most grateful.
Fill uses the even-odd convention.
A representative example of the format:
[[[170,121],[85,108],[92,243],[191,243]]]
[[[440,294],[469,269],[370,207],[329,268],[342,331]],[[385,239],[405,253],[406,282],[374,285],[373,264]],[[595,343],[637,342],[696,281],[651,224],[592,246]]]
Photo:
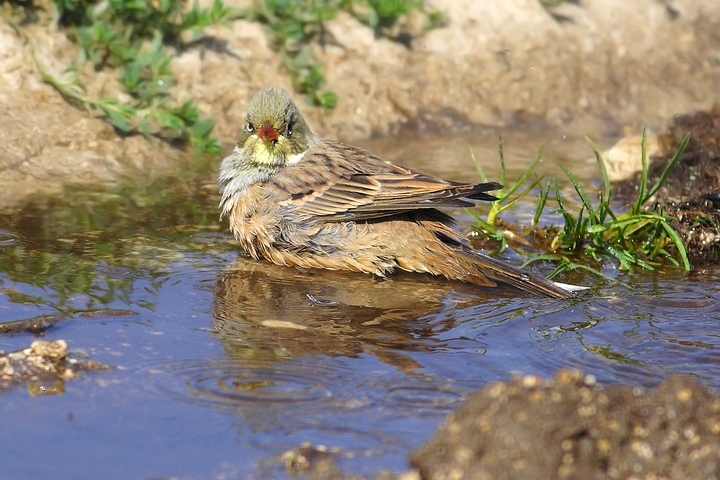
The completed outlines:
[[[221,218],[255,259],[385,276],[395,269],[564,298],[557,284],[465,246],[439,207],[492,201],[498,183],[449,182],[315,136],[287,92],[257,93],[220,167]]]

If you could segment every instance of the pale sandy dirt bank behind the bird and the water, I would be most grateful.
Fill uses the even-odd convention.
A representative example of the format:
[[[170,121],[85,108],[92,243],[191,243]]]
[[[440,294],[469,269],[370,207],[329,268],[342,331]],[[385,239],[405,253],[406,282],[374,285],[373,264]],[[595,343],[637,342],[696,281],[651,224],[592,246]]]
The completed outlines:
[[[327,25],[330,40],[315,47],[340,101],[329,112],[304,109],[317,133],[354,141],[540,122],[598,137],[628,125],[657,128],[720,96],[716,0],[583,0],[550,10],[536,0],[432,3],[444,25],[424,33],[408,19],[398,29],[409,46],[375,38],[346,15]],[[71,64],[75,47],[51,15],[41,11],[26,28],[49,71]],[[291,85],[260,25],[237,21],[207,33],[212,42],[173,63],[176,96],[195,98],[229,148],[250,96]],[[181,154],[120,138],[97,112],[65,103],[4,21],[0,77],[0,207],[62,183],[170,171]],[[110,73],[88,77],[87,87],[116,93]]]

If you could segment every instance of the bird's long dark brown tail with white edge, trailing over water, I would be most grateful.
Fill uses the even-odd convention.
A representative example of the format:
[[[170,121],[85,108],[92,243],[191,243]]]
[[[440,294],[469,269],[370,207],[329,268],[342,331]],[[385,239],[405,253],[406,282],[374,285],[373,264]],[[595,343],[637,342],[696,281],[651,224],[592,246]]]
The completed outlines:
[[[526,272],[521,268],[508,265],[500,260],[467,248],[460,249],[459,253],[461,257],[469,263],[468,266],[471,267],[471,270],[480,274],[480,277],[473,278],[471,271],[469,277],[465,280],[477,283],[478,285],[488,285],[487,279],[489,279],[493,282],[506,283],[541,297],[550,298],[572,297],[575,292],[588,288],[552,282],[544,277]]]

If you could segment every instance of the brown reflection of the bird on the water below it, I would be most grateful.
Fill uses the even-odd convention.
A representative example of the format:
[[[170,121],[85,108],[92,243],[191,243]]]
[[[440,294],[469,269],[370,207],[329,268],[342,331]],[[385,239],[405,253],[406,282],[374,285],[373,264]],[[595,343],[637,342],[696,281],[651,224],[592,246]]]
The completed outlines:
[[[373,279],[239,257],[218,279],[213,330],[232,358],[370,354],[407,371],[418,367],[409,352],[442,348],[454,312],[490,295],[517,297],[430,275]]]

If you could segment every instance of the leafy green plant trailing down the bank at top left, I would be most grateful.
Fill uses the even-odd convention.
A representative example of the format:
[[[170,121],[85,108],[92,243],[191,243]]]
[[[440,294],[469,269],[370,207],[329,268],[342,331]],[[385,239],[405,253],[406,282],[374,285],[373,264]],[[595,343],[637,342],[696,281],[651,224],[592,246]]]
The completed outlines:
[[[172,49],[187,47],[186,34],[197,38],[202,29],[237,17],[237,12],[215,0],[201,9],[197,3],[171,0],[54,0],[60,26],[79,47],[76,64],[53,76],[38,60],[34,45],[16,23],[11,25],[31,44],[33,60],[43,80],[68,101],[97,108],[120,131],[139,131],[145,137],[158,135],[189,142],[196,151],[217,153],[220,145],[210,134],[211,119],[202,119],[192,100],[177,105],[170,89]],[[94,98],[85,93],[82,66],[119,70],[118,81],[127,101]]]

